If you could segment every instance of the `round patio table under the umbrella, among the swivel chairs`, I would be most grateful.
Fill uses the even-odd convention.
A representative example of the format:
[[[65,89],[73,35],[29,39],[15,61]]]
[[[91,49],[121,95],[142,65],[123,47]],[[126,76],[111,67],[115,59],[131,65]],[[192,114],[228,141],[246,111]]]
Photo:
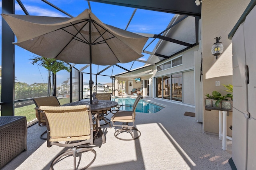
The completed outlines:
[[[105,120],[103,113],[100,113],[100,111],[104,111],[104,110],[108,110],[113,107],[116,107],[118,105],[118,102],[111,101],[111,100],[98,100],[98,104],[90,104],[90,100],[80,100],[77,102],[64,104],[62,106],[78,106],[78,105],[90,105],[90,110],[92,112],[97,112],[100,119],[103,119],[105,122],[107,122],[110,125],[110,123]],[[111,125],[110,125],[110,128],[111,128]],[[102,135],[102,143],[106,143],[105,135],[103,134],[100,127],[98,128],[98,131]]]

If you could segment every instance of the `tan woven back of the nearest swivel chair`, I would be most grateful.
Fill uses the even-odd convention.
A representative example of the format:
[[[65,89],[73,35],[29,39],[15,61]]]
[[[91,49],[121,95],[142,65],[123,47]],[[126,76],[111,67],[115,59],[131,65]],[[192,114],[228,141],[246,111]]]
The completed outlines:
[[[58,141],[80,141],[93,144],[93,122],[89,106],[40,106],[47,127],[47,146],[62,146]],[[76,144],[63,146],[77,146]]]

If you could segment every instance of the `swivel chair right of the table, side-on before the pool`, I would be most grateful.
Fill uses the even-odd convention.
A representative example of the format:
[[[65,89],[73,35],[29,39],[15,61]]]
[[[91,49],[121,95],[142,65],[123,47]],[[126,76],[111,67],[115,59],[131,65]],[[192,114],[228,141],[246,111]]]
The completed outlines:
[[[123,141],[131,141],[134,139],[138,139],[141,135],[140,131],[134,127],[134,122],[135,122],[135,116],[136,116],[136,107],[140,101],[140,99],[142,99],[143,96],[142,95],[138,95],[138,97],[136,98],[133,106],[132,106],[132,111],[126,111],[126,110],[119,110],[119,108],[122,105],[117,106],[118,109],[117,110],[112,110],[111,113],[113,113],[114,115],[111,118],[112,121],[112,125],[113,126],[118,126],[118,127],[122,127],[121,129],[116,129],[114,135],[117,139],[123,140]],[[124,106],[125,107],[125,106]],[[131,107],[131,106],[128,106]],[[118,124],[115,124],[119,122]],[[128,125],[129,123],[132,123],[132,125]],[[121,133],[126,132],[126,133],[130,133],[130,135],[132,136],[132,139],[124,139],[124,138],[120,138],[118,137],[118,135],[120,135]],[[134,132],[137,133],[137,135],[134,135]]]

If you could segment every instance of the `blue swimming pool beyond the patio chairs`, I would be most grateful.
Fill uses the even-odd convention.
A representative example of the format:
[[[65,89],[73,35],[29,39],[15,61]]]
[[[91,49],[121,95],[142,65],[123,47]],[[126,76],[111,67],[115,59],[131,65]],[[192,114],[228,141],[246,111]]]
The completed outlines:
[[[112,98],[112,101],[118,102],[120,105],[124,105],[120,108],[120,110],[127,110],[131,111],[132,106],[136,100],[136,98]],[[126,107],[125,107],[126,106]],[[129,106],[129,107],[127,107]],[[136,112],[141,112],[141,113],[156,113],[163,109],[164,106],[156,105],[151,102],[148,102],[146,100],[140,100],[137,107],[136,107]]]

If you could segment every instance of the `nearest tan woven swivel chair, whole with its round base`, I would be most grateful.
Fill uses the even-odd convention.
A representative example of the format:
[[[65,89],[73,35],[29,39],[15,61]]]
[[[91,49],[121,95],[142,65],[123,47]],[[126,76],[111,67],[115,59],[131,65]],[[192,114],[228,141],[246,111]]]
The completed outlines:
[[[96,128],[93,123],[92,113],[89,105],[80,106],[40,106],[38,110],[44,115],[47,127],[47,147],[57,145],[59,147],[72,147],[58,156],[56,156],[50,165],[53,166],[61,162],[69,155],[74,158],[74,170],[76,166],[76,157],[79,157],[79,162],[82,158],[82,153],[90,151],[94,154],[92,161],[84,168],[88,168],[96,158],[96,151],[84,145],[94,144],[93,131]],[[66,167],[68,168],[68,167]]]

